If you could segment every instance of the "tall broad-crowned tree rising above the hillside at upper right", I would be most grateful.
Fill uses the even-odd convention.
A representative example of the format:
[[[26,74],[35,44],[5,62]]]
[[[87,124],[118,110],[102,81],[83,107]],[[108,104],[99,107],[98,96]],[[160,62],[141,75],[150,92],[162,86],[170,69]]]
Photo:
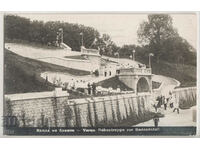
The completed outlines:
[[[172,17],[167,14],[151,14],[148,20],[140,24],[138,38],[141,44],[148,44],[150,52],[155,54],[157,63],[163,52],[163,42],[178,36],[172,25]]]

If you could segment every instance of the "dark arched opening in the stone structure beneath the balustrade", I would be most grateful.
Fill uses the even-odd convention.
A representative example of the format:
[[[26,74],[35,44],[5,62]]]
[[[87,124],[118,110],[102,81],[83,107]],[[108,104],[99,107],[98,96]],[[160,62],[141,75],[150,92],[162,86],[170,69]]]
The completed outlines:
[[[146,79],[145,77],[141,77],[138,79],[136,87],[137,87],[137,93],[150,92],[148,79]]]

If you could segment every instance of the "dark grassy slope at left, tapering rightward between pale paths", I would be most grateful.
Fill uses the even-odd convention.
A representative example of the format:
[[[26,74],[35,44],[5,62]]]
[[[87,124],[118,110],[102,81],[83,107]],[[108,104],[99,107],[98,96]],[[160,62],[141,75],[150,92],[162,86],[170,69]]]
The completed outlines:
[[[4,93],[25,93],[53,90],[50,83],[40,77],[44,71],[67,72],[72,75],[88,75],[89,72],[57,66],[19,56],[5,50]]]

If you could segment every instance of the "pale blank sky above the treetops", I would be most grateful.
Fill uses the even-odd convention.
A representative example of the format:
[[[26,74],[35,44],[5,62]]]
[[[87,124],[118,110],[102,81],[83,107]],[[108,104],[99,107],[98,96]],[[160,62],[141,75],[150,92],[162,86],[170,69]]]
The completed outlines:
[[[138,44],[137,30],[147,20],[147,14],[17,14],[31,20],[63,21],[94,27],[100,34],[109,34],[118,45]],[[190,14],[170,14],[173,26],[181,37],[185,38],[195,49],[197,48],[197,16]]]

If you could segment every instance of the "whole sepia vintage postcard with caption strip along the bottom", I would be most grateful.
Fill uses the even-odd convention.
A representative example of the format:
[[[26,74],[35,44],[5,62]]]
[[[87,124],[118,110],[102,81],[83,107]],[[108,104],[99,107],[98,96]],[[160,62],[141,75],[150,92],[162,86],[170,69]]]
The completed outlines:
[[[196,13],[4,13],[3,136],[196,136]]]

